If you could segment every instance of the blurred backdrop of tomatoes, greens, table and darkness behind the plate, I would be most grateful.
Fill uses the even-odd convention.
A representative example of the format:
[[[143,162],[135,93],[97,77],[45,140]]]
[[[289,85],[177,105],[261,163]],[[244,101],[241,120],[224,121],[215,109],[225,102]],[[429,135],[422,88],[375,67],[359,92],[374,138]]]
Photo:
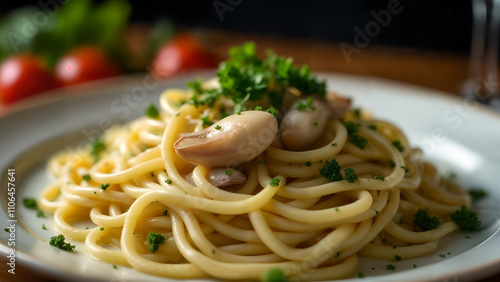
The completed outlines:
[[[114,75],[216,67],[246,41],[314,71],[452,94],[469,75],[471,1],[40,0],[1,9],[3,104]],[[13,73],[16,64],[23,71]]]

